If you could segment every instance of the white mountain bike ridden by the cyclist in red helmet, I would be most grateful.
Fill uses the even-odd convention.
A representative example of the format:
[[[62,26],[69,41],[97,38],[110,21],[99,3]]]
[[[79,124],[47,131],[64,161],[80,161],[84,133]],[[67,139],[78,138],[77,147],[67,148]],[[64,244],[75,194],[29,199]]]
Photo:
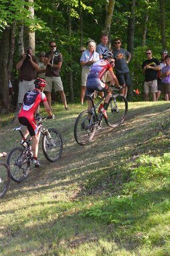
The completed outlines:
[[[62,156],[63,141],[60,133],[54,128],[43,128],[43,123],[50,119],[49,117],[35,118],[38,121],[38,134],[43,134],[42,148],[46,159],[49,162],[55,162]],[[16,182],[21,182],[27,178],[32,165],[33,153],[30,142],[31,137],[24,139],[22,133],[23,125],[14,128],[14,131],[19,131],[22,137],[22,147],[12,149],[7,158],[7,164],[10,166],[11,179]],[[38,166],[36,166],[38,167]]]

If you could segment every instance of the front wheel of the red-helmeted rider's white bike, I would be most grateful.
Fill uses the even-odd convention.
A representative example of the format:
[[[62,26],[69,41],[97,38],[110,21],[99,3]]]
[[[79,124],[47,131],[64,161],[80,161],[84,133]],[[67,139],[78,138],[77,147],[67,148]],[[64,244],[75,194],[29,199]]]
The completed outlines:
[[[49,128],[48,133],[43,135],[43,153],[49,162],[55,162],[62,156],[63,141],[56,129]]]

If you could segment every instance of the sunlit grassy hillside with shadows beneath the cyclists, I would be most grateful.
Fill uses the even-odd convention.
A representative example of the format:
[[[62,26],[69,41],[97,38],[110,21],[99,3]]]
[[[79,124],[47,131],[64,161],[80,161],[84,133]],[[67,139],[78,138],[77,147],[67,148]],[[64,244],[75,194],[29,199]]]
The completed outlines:
[[[104,124],[87,146],[73,137],[75,118],[54,106],[63,156],[0,200],[0,255],[170,255],[169,102],[129,103],[123,125]],[[19,144],[11,117],[1,117],[0,151]]]

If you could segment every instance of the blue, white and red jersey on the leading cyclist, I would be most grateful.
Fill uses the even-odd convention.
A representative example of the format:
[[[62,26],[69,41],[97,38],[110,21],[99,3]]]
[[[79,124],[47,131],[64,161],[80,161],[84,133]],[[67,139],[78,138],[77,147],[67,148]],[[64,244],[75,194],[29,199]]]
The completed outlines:
[[[101,80],[106,71],[112,68],[112,65],[107,60],[98,60],[92,65],[88,78],[97,77]]]

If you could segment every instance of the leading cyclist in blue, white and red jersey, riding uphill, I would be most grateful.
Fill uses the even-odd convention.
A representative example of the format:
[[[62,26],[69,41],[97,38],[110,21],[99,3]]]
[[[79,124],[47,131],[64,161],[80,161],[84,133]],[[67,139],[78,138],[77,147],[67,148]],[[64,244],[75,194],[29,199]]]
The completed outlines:
[[[113,59],[113,53],[106,50],[103,54],[103,59],[98,60],[94,63],[92,68],[90,69],[90,73],[87,77],[87,84],[86,84],[86,95],[91,94],[94,91],[100,91],[100,92],[107,92],[104,105],[99,108],[99,111],[104,115],[105,118],[107,118],[107,104],[109,102],[109,99],[112,95],[112,89],[102,81],[102,78],[104,74],[109,71],[109,74],[111,75],[114,83],[116,86],[120,89],[122,89],[122,86],[118,83],[118,80],[113,73],[113,67],[114,67],[114,59]],[[88,110],[92,109],[92,103],[91,100],[88,100]]]

